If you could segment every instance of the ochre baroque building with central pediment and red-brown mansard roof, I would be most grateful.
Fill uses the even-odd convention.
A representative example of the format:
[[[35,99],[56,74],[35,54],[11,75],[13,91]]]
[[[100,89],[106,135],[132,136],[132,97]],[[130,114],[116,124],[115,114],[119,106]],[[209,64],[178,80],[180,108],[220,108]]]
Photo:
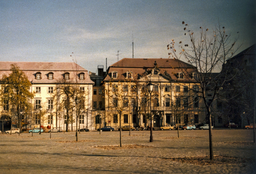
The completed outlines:
[[[197,78],[195,67],[177,59],[124,58],[116,62],[108,68],[104,79],[104,125],[118,127],[121,110],[122,125],[148,126],[150,94],[146,85],[149,81],[154,85],[151,94],[154,128],[178,122],[205,122]]]

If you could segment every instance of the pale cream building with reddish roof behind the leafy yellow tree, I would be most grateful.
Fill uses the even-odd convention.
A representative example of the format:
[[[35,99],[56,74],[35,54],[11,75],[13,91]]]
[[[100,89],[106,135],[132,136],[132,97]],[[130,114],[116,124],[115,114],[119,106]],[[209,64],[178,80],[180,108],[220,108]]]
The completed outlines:
[[[16,64],[23,71],[31,83],[30,92],[34,98],[29,102],[32,108],[28,112],[21,112],[23,129],[39,127],[61,127],[63,130],[76,130],[76,96],[65,95],[67,90],[75,86],[79,90],[79,126],[94,129],[91,123],[92,85],[87,70],[76,63],[63,62],[0,62],[0,79],[3,75],[9,75],[10,66]],[[67,99],[70,98],[70,109],[67,109]],[[83,99],[82,99],[83,98]],[[6,104],[6,103],[5,103]],[[8,104],[8,103],[7,103]],[[17,122],[17,116],[10,111],[11,106],[0,107],[0,120],[10,120],[12,124]],[[68,114],[67,114],[68,112]],[[68,116],[68,117],[67,117]],[[69,118],[69,119],[67,119]],[[68,125],[67,125],[68,122]],[[2,124],[1,124],[2,125]],[[0,125],[0,126],[1,126]],[[10,128],[10,125],[6,125]]]

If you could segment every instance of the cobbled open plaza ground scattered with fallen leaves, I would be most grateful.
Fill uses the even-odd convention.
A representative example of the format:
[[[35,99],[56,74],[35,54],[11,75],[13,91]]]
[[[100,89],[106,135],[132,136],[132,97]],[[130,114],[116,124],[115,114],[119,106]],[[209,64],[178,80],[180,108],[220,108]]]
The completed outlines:
[[[196,165],[172,157],[209,155],[208,130],[0,134],[0,174],[254,174],[253,130],[213,130],[214,155],[240,162]],[[130,145],[130,146],[127,146]],[[127,147],[127,148],[125,148]]]

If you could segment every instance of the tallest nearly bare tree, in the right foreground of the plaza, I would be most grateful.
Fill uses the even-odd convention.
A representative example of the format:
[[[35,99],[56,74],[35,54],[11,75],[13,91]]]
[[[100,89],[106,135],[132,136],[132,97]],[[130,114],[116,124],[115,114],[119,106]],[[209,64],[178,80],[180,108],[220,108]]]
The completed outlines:
[[[222,71],[222,69],[223,65],[237,50],[234,49],[237,38],[230,42],[230,34],[221,25],[217,25],[213,30],[199,27],[198,34],[196,31],[191,30],[184,22],[182,24],[184,25],[184,37],[186,38],[183,41],[172,40],[167,46],[168,50],[170,50],[169,55],[178,60],[185,60],[195,67],[195,70],[198,72],[195,79],[199,84],[201,98],[204,101],[209,124],[211,125],[211,104],[222,89],[221,87],[224,82],[229,80],[227,70]],[[184,71],[186,76],[193,76],[186,72],[186,69]],[[218,71],[221,73],[215,75],[214,73]],[[210,98],[206,95],[207,86],[211,87],[212,96]],[[209,148],[210,159],[213,159],[211,126],[209,126]]]

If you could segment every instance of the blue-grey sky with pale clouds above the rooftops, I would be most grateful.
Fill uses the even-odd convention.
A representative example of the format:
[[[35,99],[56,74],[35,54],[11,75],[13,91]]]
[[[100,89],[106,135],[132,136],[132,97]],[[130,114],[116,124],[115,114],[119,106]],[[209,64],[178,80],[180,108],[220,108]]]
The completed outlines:
[[[91,72],[132,58],[168,58],[182,21],[225,26],[243,44],[256,43],[255,0],[0,0],[1,61],[72,62]],[[73,53],[72,53],[73,52]],[[72,57],[70,56],[72,55]]]

